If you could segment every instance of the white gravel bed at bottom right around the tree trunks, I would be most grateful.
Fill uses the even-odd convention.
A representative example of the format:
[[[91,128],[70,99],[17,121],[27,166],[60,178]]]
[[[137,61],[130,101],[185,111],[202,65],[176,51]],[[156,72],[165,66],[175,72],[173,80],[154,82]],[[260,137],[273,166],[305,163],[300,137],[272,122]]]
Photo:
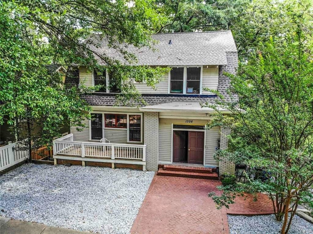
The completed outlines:
[[[274,215],[235,216],[228,215],[230,234],[279,234],[282,223]],[[313,224],[295,215],[288,234],[313,233]]]

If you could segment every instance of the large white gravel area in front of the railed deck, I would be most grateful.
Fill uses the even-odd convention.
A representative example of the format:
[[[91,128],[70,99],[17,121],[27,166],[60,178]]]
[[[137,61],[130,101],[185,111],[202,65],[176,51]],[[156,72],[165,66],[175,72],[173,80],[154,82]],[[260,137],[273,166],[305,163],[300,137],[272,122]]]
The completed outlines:
[[[0,215],[99,233],[129,233],[154,172],[24,164],[0,176]]]

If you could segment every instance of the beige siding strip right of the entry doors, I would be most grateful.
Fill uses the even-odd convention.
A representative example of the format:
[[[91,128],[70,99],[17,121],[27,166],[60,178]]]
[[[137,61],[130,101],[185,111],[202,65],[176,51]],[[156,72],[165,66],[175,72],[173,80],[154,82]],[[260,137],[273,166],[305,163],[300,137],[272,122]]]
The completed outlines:
[[[213,158],[216,147],[218,147],[218,139],[220,139],[219,127],[212,127],[207,130],[205,139],[205,165],[218,166],[218,162]]]

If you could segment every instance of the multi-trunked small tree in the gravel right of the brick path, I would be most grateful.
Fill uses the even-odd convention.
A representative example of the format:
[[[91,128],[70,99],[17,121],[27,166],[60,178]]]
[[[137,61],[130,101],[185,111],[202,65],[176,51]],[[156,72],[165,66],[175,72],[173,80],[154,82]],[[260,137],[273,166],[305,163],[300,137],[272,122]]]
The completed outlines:
[[[244,183],[220,186],[210,193],[218,207],[228,207],[244,192],[268,194],[275,217],[288,233],[299,204],[313,207],[313,61],[299,29],[291,36],[272,38],[259,47],[237,75],[229,75],[229,93],[236,97],[207,106],[217,114],[210,123],[231,129],[229,147],[215,154],[254,168]],[[235,101],[236,100],[236,101]],[[222,106],[232,112],[218,112]],[[243,112],[240,109],[244,109]],[[290,211],[290,216],[288,213]]]

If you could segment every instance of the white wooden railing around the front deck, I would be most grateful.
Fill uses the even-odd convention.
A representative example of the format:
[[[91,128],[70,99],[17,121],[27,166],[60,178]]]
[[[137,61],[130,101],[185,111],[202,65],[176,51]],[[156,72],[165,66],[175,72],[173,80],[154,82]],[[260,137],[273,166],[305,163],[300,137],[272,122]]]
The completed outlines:
[[[129,160],[146,162],[146,145],[78,142],[73,140],[73,134],[71,133],[53,141],[53,154],[54,156],[63,155],[80,157],[80,159],[77,160],[81,161],[95,161],[87,159],[94,158],[110,159],[110,161],[97,160],[97,162],[136,164],[136,162],[130,162]],[[142,164],[145,169],[145,163],[137,164]]]

